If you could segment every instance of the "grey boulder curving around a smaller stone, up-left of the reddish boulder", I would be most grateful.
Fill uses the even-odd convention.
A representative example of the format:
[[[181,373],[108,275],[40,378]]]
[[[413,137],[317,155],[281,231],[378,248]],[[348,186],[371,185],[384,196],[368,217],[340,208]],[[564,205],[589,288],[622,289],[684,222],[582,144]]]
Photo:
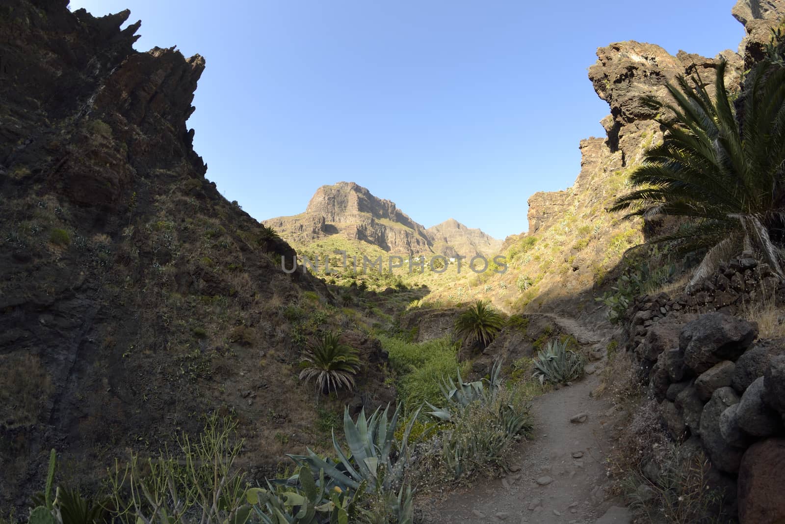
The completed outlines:
[[[721,387],[714,391],[711,400],[703,407],[700,416],[700,439],[711,463],[720,471],[736,473],[743,450],[725,442],[720,430],[720,416],[725,409],[739,402],[739,395],[732,387]]]

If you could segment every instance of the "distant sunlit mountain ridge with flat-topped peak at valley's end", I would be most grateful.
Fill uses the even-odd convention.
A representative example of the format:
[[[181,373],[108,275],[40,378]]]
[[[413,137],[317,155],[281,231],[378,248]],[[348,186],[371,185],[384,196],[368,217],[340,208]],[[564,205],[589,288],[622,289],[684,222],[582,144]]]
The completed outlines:
[[[286,240],[307,247],[333,235],[379,247],[389,253],[434,253],[454,257],[495,255],[502,241],[469,229],[452,218],[432,228],[414,222],[390,200],[380,199],[354,182],[323,185],[305,212],[270,218],[265,225]]]

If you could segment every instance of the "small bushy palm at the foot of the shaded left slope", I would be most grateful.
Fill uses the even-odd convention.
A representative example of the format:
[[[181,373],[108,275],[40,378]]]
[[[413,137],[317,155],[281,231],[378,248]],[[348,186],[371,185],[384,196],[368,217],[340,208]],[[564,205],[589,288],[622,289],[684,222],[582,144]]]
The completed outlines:
[[[353,347],[341,344],[338,335],[327,332],[309,346],[302,364],[305,367],[300,372],[300,379],[306,383],[311,379],[316,382],[318,401],[319,393],[330,393],[330,389],[338,392],[339,388],[354,388],[354,376],[360,369],[360,358]]]

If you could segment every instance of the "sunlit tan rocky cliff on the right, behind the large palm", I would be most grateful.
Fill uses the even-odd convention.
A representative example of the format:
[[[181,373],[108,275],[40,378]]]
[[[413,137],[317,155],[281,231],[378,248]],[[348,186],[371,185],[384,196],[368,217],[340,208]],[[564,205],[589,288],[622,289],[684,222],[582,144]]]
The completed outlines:
[[[512,271],[502,281],[522,283],[517,306],[563,303],[575,311],[593,309],[592,295],[627,248],[642,240],[640,221],[625,221],[604,210],[628,189],[627,178],[643,152],[662,137],[654,114],[640,102],[647,94],[666,95],[677,75],[714,75],[720,60],[730,67],[726,82],[738,86],[743,59],[734,51],[714,58],[640,42],[617,42],[597,49],[589,79],[611,114],[601,123],[602,138],[580,142],[581,170],[571,188],[537,192],[529,200],[528,233],[505,242]],[[525,251],[525,252],[524,252]],[[509,296],[507,304],[513,299]],[[530,305],[531,304],[531,305]]]

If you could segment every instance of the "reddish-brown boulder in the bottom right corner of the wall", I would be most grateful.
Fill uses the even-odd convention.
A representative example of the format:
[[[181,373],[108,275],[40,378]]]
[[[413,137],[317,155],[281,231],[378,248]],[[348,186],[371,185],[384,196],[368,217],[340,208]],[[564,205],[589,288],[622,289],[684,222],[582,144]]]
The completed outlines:
[[[747,449],[739,467],[739,522],[785,522],[785,439],[769,438]]]

